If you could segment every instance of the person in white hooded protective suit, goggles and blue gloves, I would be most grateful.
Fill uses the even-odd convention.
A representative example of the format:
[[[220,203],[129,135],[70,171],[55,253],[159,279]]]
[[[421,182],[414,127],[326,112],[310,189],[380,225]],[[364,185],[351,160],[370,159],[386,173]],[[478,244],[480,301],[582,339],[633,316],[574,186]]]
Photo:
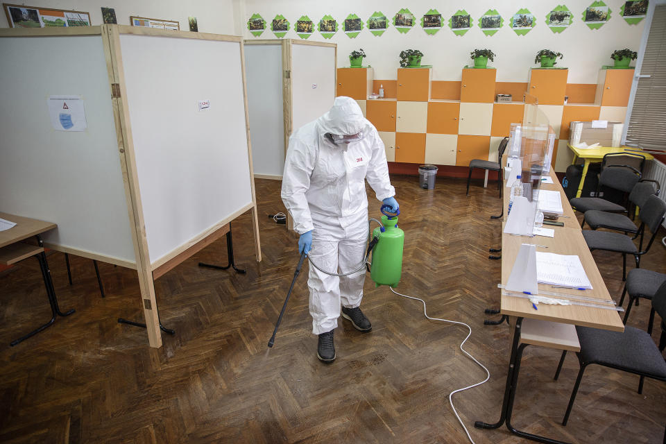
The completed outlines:
[[[391,211],[398,210],[388,178],[384,143],[358,103],[337,97],[332,108],[289,137],[282,176],[282,201],[300,234],[298,250],[330,273],[349,273],[363,263],[368,239],[365,180]],[[312,264],[307,285],[312,333],[318,335],[317,357],[335,359],[333,331],[342,316],[361,332],[372,325],[359,308],[365,267],[337,277]]]

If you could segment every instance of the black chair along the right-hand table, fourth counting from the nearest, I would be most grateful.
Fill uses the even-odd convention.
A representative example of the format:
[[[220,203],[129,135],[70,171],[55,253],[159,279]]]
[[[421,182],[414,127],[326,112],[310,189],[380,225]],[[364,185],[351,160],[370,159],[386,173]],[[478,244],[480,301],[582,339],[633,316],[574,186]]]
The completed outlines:
[[[656,180],[641,179],[631,189],[629,193],[629,214],[633,216],[635,207],[642,208],[649,196],[658,196],[660,191],[659,182]],[[633,218],[632,218],[633,219]],[[622,231],[625,234],[628,232],[637,233],[638,227],[633,223],[632,219],[620,213],[611,213],[599,210],[589,210],[583,215],[583,222],[581,228],[587,222],[592,230],[597,228],[608,228],[609,230]]]

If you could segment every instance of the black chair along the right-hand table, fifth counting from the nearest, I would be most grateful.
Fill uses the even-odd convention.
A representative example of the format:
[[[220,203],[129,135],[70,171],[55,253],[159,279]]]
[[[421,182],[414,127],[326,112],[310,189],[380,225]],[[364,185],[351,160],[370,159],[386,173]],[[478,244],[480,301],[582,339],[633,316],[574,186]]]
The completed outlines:
[[[630,193],[633,186],[640,180],[640,172],[629,165],[608,165],[601,169],[599,175],[599,185],[597,187],[597,196],[604,189],[616,189],[624,193]],[[599,197],[574,197],[569,203],[579,212],[588,212],[590,210],[599,210],[610,213],[624,213],[626,207]]]

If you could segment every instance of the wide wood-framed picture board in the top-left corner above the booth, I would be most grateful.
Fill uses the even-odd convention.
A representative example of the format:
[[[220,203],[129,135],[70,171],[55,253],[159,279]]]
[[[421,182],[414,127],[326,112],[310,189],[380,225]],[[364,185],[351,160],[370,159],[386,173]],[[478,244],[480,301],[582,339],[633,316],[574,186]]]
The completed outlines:
[[[45,28],[55,26],[90,26],[90,13],[66,9],[2,3],[7,22],[12,28]]]

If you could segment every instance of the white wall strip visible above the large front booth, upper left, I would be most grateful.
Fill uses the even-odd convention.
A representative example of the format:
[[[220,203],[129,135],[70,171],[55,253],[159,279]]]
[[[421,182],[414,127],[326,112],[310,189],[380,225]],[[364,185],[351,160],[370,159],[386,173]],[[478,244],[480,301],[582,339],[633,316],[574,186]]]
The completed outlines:
[[[90,13],[93,25],[101,25],[101,7],[114,8],[119,25],[130,24],[130,15],[149,17],[151,19],[177,20],[182,31],[189,31],[187,17],[196,17],[200,33],[236,34],[239,26],[234,20],[234,3],[240,0],[29,0],[27,2],[8,1],[13,4],[28,6],[78,10]],[[299,16],[300,17],[300,16]],[[7,28],[7,16],[3,11],[0,15],[0,28]]]

